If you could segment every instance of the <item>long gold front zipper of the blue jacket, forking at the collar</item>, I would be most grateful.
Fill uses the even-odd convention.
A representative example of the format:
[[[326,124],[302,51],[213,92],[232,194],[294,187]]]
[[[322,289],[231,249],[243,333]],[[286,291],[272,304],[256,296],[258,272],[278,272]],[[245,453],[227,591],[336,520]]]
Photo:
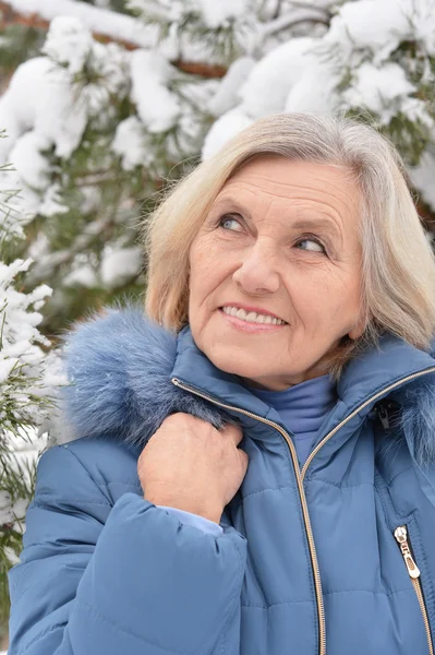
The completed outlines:
[[[343,418],[343,420],[340,421],[338,424],[338,426],[336,426],[330,432],[328,432],[328,434],[326,434],[326,437],[324,439],[322,439],[322,441],[316,445],[316,448],[313,450],[313,452],[306,460],[302,471],[300,471],[300,468],[299,468],[298,454],[297,454],[294,444],[293,444],[289,433],[286,432],[286,430],[283,428],[281,428],[281,426],[279,424],[277,424],[273,420],[268,420],[267,418],[263,418],[262,416],[258,416],[257,414],[253,414],[252,412],[247,412],[246,409],[242,409],[241,407],[235,407],[233,405],[226,405],[225,403],[221,403],[220,401],[214,398],[213,396],[209,396],[208,394],[205,394],[205,393],[198,391],[197,389],[191,386],[190,384],[184,384],[184,382],[181,382],[178,378],[171,378],[171,382],[176,386],[183,389],[184,391],[189,391],[196,396],[205,398],[206,401],[209,401],[214,405],[222,407],[223,409],[231,409],[232,412],[239,412],[240,414],[243,414],[244,416],[255,418],[256,420],[259,420],[259,422],[263,422],[265,425],[268,425],[268,426],[275,428],[285,438],[287,445],[289,446],[291,460],[293,463],[294,476],[297,478],[299,498],[300,498],[300,502],[301,502],[302,514],[303,514],[303,520],[304,520],[304,525],[305,525],[306,539],[309,541],[311,564],[312,564],[312,569],[313,569],[314,586],[315,586],[315,591],[316,591],[316,603],[317,603],[318,655],[326,655],[325,608],[324,608],[323,594],[322,594],[321,571],[318,568],[316,548],[315,548],[315,544],[314,544],[314,536],[313,536],[313,531],[311,527],[309,505],[306,502],[305,491],[303,488],[303,479],[305,477],[306,471],[307,471],[311,462],[315,457],[315,455],[325,445],[325,443],[327,441],[329,441],[329,439],[331,437],[334,437],[334,434],[336,434],[338,432],[338,430],[340,428],[342,428],[342,426],[345,426],[349,420],[351,420],[366,405],[368,405],[373,401],[376,401],[376,398],[380,397],[382,395],[389,393],[397,386],[400,386],[400,384],[402,384],[403,382],[408,382],[410,380],[414,380],[415,378],[420,378],[422,376],[433,373],[433,372],[435,372],[435,366],[431,367],[428,369],[425,369],[423,371],[419,371],[418,373],[412,373],[411,376],[406,376],[404,378],[401,378],[400,380],[398,380],[394,384],[390,384],[383,391],[379,391],[378,393],[371,396],[367,401],[362,403],[359,407],[357,407],[357,409],[354,409],[351,414],[349,414],[349,416]],[[431,655],[434,655],[434,653],[431,652]]]

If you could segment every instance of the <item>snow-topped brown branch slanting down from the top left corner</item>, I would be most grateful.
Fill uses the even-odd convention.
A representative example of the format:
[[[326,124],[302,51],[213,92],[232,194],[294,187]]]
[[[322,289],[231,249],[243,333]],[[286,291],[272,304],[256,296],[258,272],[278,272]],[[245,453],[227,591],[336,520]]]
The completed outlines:
[[[25,25],[48,29],[50,21],[60,15],[81,19],[101,43],[116,43],[126,50],[155,47],[154,32],[131,16],[100,9],[78,0],[58,0],[56,9],[46,0],[0,0],[0,29],[10,25]],[[223,78],[226,67],[177,59],[171,64],[193,75],[207,79]]]

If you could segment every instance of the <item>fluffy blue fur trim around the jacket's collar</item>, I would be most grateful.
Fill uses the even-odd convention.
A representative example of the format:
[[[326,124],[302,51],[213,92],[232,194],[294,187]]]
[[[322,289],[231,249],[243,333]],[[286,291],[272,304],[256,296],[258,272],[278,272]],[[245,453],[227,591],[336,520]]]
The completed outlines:
[[[90,314],[65,332],[62,343],[70,380],[61,395],[68,440],[99,434],[143,448],[174,412],[193,414],[216,428],[238,422],[172,384],[177,336],[148,321],[137,302]],[[400,425],[416,461],[424,464],[435,463],[434,380],[425,376],[383,401],[384,408],[391,406],[391,397],[396,409],[399,405]]]

